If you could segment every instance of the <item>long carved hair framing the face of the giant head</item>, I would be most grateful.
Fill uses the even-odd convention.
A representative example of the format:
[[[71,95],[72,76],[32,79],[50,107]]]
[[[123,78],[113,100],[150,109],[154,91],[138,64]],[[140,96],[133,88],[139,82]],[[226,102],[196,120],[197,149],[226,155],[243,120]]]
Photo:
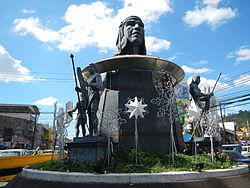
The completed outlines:
[[[126,38],[126,36],[124,35],[124,26],[126,24],[126,22],[130,19],[136,19],[136,20],[141,20],[141,18],[139,18],[138,16],[129,16],[127,17],[123,22],[121,22],[120,26],[119,26],[119,32],[118,32],[118,37],[116,40],[116,52],[115,55],[125,55],[128,54],[128,39]],[[146,47],[145,47],[145,38],[143,37],[143,41],[142,44],[140,45],[140,49],[139,49],[139,55],[146,55]]]

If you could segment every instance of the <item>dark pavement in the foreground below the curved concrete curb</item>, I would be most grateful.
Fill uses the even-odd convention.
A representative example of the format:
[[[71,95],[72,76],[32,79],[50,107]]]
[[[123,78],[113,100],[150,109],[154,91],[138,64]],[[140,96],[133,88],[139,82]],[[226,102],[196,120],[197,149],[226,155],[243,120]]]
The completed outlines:
[[[31,180],[16,176],[6,188],[249,188],[250,174],[231,176],[218,179],[200,181],[184,181],[172,183],[147,183],[147,184],[109,184],[109,183],[65,183],[55,181]]]

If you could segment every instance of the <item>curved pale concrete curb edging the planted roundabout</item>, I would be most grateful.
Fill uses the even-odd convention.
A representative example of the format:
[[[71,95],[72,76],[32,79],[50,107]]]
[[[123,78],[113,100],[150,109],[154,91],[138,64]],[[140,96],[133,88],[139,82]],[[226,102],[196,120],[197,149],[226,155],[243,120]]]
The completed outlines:
[[[204,170],[202,172],[164,172],[131,174],[91,174],[77,172],[55,172],[24,168],[22,176],[28,179],[78,183],[145,184],[195,181],[249,173],[248,165],[229,169]]]

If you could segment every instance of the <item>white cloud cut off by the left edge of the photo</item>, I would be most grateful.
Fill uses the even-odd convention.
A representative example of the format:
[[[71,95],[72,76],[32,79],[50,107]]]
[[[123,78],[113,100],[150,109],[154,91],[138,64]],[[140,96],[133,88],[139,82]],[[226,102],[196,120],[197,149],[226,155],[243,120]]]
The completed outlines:
[[[7,50],[0,45],[0,81],[2,82],[29,82],[35,80],[30,76],[30,70],[22,66],[22,61],[10,56]]]

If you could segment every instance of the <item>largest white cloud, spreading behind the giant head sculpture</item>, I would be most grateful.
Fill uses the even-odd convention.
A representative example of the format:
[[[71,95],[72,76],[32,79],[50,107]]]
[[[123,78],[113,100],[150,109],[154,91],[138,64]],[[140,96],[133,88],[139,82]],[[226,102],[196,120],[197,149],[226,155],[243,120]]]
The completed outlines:
[[[58,31],[48,29],[39,18],[16,19],[15,32],[20,35],[32,34],[42,42],[55,42],[60,50],[77,52],[87,45],[95,45],[100,52],[115,48],[118,27],[127,16],[137,15],[146,24],[156,22],[159,17],[171,12],[169,0],[123,0],[123,7],[115,10],[108,4],[96,1],[91,4],[70,5],[64,14],[67,23]],[[168,49],[170,43],[148,36],[153,42],[149,52]],[[150,51],[151,50],[151,51]]]

